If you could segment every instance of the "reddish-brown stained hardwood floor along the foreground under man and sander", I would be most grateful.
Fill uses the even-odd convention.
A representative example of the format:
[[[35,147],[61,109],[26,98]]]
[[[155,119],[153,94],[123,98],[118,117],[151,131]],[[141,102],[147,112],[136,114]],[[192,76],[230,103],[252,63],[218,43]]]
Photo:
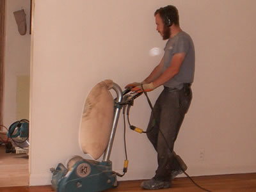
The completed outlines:
[[[207,177],[193,177],[203,188],[216,192],[255,192],[256,191],[256,173],[236,174],[236,175],[215,175]],[[167,192],[167,191],[188,191],[200,192],[202,189],[197,188],[188,178],[177,178],[172,182],[172,188],[159,190],[143,190],[140,188],[141,180],[123,181],[119,183],[118,188],[108,189],[106,192],[132,192],[132,191],[150,191],[150,192]],[[51,186],[34,186],[34,187],[11,187],[0,188],[1,192],[50,192],[54,191]],[[71,191],[70,191],[71,192]]]

